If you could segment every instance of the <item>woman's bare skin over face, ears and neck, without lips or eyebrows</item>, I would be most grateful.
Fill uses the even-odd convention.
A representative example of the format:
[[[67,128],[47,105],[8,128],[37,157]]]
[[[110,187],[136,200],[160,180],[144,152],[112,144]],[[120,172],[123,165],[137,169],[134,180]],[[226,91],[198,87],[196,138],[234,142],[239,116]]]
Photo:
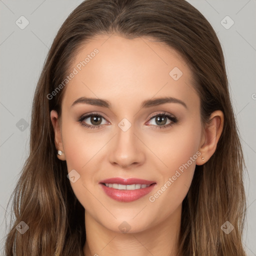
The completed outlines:
[[[202,125],[192,73],[166,45],[144,37],[98,35],[84,44],[70,70],[94,48],[99,52],[66,85],[61,117],[55,110],[50,113],[55,146],[64,152],[58,158],[66,160],[68,172],[75,169],[80,175],[70,184],[85,208],[84,255],[174,256],[182,200],[195,164],[205,163],[216,149],[223,113],[213,112],[211,124]],[[174,67],[182,71],[177,80],[169,75]],[[107,100],[111,106],[82,102],[71,106],[82,96]],[[142,101],[158,97],[173,97],[186,106],[167,102],[141,108]],[[78,121],[92,112],[102,116],[99,125],[90,117]],[[162,124],[157,122],[155,115],[163,113],[176,117],[177,122],[168,117],[163,117]],[[126,131],[118,126],[123,118],[131,124]],[[90,129],[81,125],[85,123],[100,127]],[[166,185],[185,163],[189,166]],[[98,184],[110,177],[154,180],[156,186],[137,200],[120,202]],[[154,196],[159,189],[164,191]],[[130,228],[125,233],[119,227],[122,223]]]

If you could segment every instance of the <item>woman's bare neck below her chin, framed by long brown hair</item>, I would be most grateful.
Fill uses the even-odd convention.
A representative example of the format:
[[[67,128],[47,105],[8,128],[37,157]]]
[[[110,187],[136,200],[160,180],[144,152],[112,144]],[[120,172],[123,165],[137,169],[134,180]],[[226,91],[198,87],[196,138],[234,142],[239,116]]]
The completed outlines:
[[[163,222],[136,233],[107,229],[85,210],[84,256],[177,256],[181,205]]]

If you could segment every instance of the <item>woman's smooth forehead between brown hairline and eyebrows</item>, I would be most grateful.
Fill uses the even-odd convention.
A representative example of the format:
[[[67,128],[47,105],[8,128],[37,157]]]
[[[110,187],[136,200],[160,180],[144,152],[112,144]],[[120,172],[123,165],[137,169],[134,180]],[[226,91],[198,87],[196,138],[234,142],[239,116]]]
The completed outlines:
[[[81,96],[123,104],[166,95],[188,104],[198,101],[185,60],[150,37],[97,35],[79,48],[72,70],[75,75],[67,84],[63,104],[71,105]]]

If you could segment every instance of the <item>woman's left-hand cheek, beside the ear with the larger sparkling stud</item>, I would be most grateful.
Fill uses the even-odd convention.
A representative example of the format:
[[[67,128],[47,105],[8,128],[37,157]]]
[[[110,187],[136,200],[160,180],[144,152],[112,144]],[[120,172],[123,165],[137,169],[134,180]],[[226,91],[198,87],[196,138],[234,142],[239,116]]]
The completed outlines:
[[[93,208],[95,198],[90,191],[94,189],[93,173],[95,172],[96,153],[103,146],[103,142],[96,141],[99,135],[88,133],[85,128],[71,123],[71,121],[62,121],[62,141],[65,153],[67,170],[75,170],[79,175],[75,182],[70,185],[80,203],[85,207]],[[100,137],[102,139],[102,136]],[[75,173],[76,173],[75,172]]]

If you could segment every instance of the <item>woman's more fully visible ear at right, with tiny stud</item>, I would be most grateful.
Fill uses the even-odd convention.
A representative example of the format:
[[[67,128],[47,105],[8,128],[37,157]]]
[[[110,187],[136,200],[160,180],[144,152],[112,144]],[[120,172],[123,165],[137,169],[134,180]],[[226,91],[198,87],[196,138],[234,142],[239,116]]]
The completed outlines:
[[[211,113],[209,122],[205,124],[202,138],[200,141],[199,151],[201,157],[196,159],[196,164],[205,163],[215,152],[217,142],[223,130],[224,114],[221,110],[216,110]]]

